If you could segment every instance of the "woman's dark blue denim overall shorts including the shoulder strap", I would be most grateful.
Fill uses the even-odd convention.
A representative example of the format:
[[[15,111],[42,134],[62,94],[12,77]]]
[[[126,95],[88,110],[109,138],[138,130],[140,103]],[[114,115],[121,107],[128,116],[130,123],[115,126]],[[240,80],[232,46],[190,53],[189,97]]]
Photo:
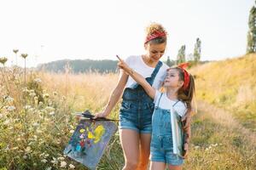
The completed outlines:
[[[146,81],[151,86],[161,65],[163,64],[159,61],[155,66],[151,77],[146,78]],[[131,88],[125,88],[123,101],[120,107],[119,128],[136,130],[138,133],[151,133],[153,111],[153,99],[146,94],[141,85],[136,83]]]

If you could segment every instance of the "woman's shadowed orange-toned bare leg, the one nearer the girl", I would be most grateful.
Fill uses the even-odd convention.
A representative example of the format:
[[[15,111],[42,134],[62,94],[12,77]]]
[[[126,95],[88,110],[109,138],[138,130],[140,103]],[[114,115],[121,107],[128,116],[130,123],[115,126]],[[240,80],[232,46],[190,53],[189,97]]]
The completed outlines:
[[[140,134],[140,160],[137,170],[148,169],[151,133]]]

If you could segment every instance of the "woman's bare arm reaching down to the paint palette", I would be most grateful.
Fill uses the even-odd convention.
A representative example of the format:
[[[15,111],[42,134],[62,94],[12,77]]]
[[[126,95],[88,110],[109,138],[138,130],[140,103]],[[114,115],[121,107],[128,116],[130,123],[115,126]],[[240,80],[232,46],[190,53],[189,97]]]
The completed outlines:
[[[120,96],[123,94],[127,79],[128,75],[125,73],[125,71],[120,71],[119,81],[116,87],[113,89],[110,98],[108,99],[108,105],[105,106],[104,111],[96,113],[94,119],[96,119],[96,117],[105,117],[110,114],[110,112],[113,110],[114,105],[116,105],[116,103],[119,101]]]

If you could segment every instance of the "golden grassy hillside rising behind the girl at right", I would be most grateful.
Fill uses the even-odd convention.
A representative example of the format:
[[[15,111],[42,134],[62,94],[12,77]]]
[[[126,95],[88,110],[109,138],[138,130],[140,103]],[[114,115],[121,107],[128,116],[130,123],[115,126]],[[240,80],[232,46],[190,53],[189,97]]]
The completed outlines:
[[[256,132],[256,54],[199,65],[191,72],[198,99],[230,111]]]

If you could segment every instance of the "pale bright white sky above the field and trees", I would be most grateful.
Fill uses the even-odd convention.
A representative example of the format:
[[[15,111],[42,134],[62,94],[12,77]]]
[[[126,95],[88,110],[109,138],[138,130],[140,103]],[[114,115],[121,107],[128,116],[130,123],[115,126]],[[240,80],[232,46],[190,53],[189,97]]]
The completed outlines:
[[[115,59],[143,54],[145,28],[160,23],[168,32],[162,60],[176,59],[186,45],[201,60],[246,53],[253,0],[8,0],[0,1],[0,57],[27,66],[59,59]],[[16,56],[13,49],[19,49]]]

